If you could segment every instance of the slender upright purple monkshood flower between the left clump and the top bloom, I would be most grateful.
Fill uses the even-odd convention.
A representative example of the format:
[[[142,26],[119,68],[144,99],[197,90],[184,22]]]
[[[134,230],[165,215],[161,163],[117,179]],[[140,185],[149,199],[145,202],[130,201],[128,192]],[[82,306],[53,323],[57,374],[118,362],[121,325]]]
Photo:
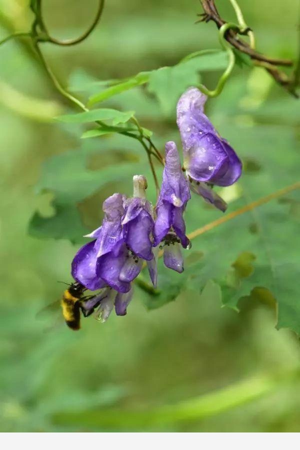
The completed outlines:
[[[181,170],[176,144],[167,142],[161,190],[156,205],[153,246],[162,242],[164,264],[179,273],[183,271],[180,247],[190,245],[183,220],[183,211],[189,199],[188,183]]]

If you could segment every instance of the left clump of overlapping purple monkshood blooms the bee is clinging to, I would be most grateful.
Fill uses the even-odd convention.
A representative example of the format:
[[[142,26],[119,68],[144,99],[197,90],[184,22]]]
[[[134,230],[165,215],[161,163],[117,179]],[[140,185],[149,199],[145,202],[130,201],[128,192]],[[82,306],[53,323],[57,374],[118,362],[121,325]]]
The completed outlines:
[[[113,304],[118,315],[126,313],[132,297],[131,281],[140,272],[143,260],[149,263],[153,283],[156,280],[150,239],[154,221],[151,203],[145,198],[146,187],[145,177],[135,175],[132,198],[120,193],[108,197],[103,202],[102,225],[87,235],[94,240],[83,245],[72,261],[71,272],[77,282],[90,290],[104,289],[91,299],[93,305],[87,306],[87,310],[93,310],[96,303],[100,304],[100,312],[104,309],[99,314],[104,319]]]

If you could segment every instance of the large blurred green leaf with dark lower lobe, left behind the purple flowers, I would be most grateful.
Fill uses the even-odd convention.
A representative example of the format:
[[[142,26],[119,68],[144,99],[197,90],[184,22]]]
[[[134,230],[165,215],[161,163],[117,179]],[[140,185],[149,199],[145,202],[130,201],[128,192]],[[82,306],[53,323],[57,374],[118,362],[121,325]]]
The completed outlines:
[[[117,164],[104,165],[100,170],[91,170],[86,167],[88,157],[101,152],[103,158],[113,155],[114,143],[118,139],[109,139],[105,148],[89,150],[88,141],[81,149],[70,150],[47,159],[41,169],[41,176],[35,186],[36,193],[50,191],[54,195],[53,206],[55,214],[42,217],[34,213],[29,223],[29,233],[36,237],[68,238],[72,242],[79,242],[88,230],[84,227],[79,215],[77,204],[103,188],[107,183],[119,183],[125,179],[128,182],[137,171],[137,155],[128,161],[132,148],[127,150],[120,145],[119,152],[123,152],[126,159],[118,160]],[[117,144],[116,144],[117,145]],[[111,156],[110,156],[111,155]],[[109,159],[108,158],[108,159]],[[126,161],[126,162],[125,162]],[[101,205],[99,205],[100,209]]]

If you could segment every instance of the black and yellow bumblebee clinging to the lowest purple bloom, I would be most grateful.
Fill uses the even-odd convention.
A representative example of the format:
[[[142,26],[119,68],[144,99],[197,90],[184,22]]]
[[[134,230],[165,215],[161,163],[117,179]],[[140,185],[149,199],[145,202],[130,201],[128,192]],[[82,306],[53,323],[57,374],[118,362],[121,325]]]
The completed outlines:
[[[62,315],[67,326],[73,330],[80,328],[80,299],[86,288],[80,283],[71,283],[60,300]]]

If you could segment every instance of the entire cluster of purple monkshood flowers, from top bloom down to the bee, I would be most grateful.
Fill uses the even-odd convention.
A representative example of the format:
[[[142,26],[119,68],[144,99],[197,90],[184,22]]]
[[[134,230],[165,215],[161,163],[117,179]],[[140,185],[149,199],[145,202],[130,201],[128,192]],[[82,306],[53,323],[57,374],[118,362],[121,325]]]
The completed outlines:
[[[189,88],[177,104],[177,125],[183,146],[183,167],[174,142],[165,144],[165,166],[155,209],[146,199],[146,179],[133,176],[133,196],[114,193],[103,202],[104,218],[87,237],[72,261],[73,278],[100,293],[83,304],[84,315],[97,308],[106,320],[115,307],[126,314],[132,298],[132,281],[147,264],[157,284],[157,251],[163,251],[166,267],[183,271],[181,247],[189,248],[183,212],[190,190],[224,211],[226,203],[213,191],[214,184],[227,186],[241,174],[241,162],[228,142],[220,137],[203,112],[206,96]]]

